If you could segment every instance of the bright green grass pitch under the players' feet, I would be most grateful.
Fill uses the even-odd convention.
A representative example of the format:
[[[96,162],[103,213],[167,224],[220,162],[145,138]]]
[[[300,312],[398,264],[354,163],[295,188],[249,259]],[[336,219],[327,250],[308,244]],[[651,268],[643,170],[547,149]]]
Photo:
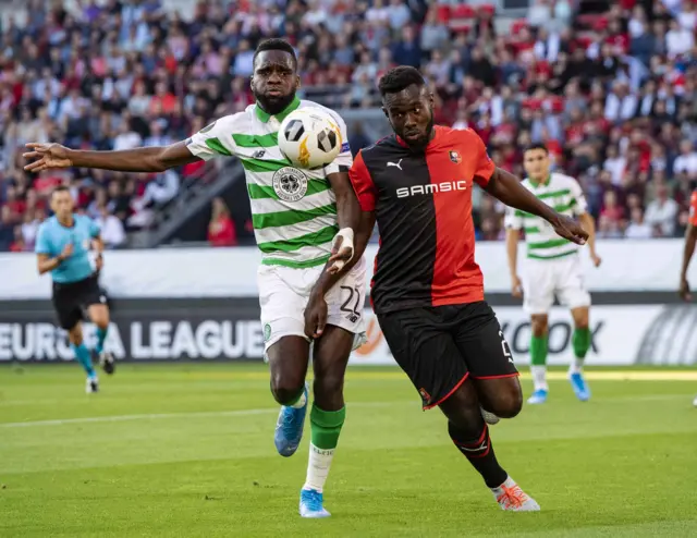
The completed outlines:
[[[547,405],[491,429],[542,506],[516,514],[401,371],[350,369],[332,517],[306,521],[309,423],[280,457],[265,367],[120,365],[94,395],[75,365],[2,367],[0,536],[697,536],[695,372],[589,374],[590,402],[559,371]]]

